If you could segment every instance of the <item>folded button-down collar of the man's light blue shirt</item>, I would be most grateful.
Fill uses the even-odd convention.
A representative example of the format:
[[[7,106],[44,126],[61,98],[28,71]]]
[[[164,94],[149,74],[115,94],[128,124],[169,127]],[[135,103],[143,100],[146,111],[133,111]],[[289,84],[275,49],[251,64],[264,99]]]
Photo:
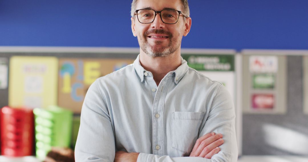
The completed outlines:
[[[140,54],[137,56],[136,60],[133,63],[134,68],[136,70],[137,75],[140,78],[140,81],[143,82],[144,81],[144,73],[146,72],[146,70],[141,66],[140,64]],[[185,75],[185,73],[188,71],[188,65],[187,65],[187,61],[184,60],[181,57],[181,65],[174,71],[170,71],[167,76],[171,76],[171,75],[175,75],[174,77],[174,83],[179,83],[180,80],[183,78],[183,76]]]

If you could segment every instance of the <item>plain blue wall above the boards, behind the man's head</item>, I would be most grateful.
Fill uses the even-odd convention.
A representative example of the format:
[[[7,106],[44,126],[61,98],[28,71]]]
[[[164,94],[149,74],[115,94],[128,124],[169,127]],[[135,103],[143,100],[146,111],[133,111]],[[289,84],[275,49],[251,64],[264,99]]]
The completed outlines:
[[[188,2],[193,24],[184,48],[308,49],[307,0]],[[138,47],[130,3],[1,0],[0,46]]]

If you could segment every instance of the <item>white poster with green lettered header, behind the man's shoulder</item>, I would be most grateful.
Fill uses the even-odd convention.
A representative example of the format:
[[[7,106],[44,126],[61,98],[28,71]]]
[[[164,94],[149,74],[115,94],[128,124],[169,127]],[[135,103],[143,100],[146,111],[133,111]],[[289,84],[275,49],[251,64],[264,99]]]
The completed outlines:
[[[234,55],[182,55],[189,67],[198,70],[211,80],[222,83],[235,102]]]

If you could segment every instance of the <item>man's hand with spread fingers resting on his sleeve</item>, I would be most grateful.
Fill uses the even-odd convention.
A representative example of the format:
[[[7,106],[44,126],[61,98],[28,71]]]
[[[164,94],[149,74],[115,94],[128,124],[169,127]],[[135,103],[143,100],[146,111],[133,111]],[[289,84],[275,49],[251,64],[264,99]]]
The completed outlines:
[[[224,140],[222,139],[222,134],[208,133],[197,139],[196,144],[193,147],[193,151],[189,156],[211,159],[213,155],[220,151],[218,146],[223,143]]]

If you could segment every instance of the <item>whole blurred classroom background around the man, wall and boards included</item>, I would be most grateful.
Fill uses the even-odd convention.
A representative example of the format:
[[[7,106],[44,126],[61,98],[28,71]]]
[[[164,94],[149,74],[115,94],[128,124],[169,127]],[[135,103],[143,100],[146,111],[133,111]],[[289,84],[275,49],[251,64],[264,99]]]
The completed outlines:
[[[239,161],[307,160],[308,1],[188,2],[182,57],[233,96]],[[74,149],[87,88],[139,53],[130,4],[0,0],[0,161]]]

